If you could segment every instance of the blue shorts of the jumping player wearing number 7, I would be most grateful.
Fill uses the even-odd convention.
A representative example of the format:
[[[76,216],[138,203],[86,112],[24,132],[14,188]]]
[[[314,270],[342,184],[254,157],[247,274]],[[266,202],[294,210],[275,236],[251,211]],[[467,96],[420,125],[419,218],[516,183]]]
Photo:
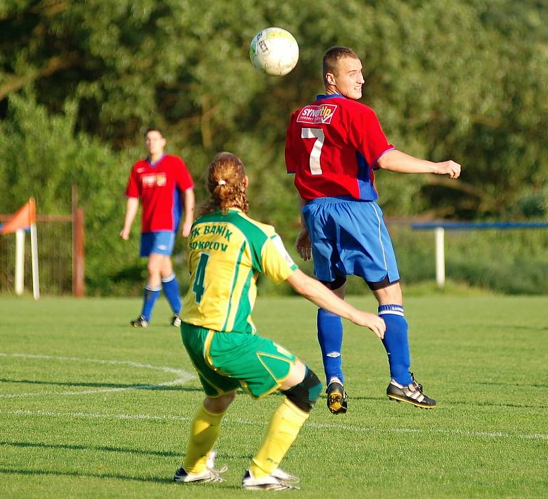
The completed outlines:
[[[347,275],[368,283],[399,280],[394,248],[375,201],[318,198],[302,212],[312,242],[314,274],[320,281]]]

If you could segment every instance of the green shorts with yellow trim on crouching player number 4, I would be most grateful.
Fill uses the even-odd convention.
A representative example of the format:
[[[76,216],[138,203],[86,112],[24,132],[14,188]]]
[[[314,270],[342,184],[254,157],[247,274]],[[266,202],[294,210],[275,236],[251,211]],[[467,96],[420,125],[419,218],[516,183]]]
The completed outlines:
[[[256,334],[222,333],[183,322],[181,337],[209,397],[240,387],[253,398],[268,395],[279,388],[296,360]]]

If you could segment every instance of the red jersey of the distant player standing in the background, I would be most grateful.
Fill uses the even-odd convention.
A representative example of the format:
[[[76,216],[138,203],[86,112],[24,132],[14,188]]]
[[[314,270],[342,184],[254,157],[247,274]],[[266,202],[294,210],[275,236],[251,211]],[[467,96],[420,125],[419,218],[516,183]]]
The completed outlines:
[[[184,161],[163,155],[152,165],[140,159],[132,168],[125,195],[141,199],[142,232],[177,231],[182,213],[182,192],[193,188]]]

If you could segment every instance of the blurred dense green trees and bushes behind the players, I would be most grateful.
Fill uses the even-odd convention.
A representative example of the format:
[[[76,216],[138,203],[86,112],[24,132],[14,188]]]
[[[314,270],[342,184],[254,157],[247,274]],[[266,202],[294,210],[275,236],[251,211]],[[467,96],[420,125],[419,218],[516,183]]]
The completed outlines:
[[[364,102],[389,140],[463,166],[458,181],[379,173],[386,215],[546,216],[547,16],[534,0],[0,0],[0,212],[35,196],[40,213],[68,213],[77,185],[88,292],[116,292],[139,268],[137,222],[132,243],[117,238],[127,173],[155,123],[199,200],[212,155],[240,155],[251,214],[289,245],[298,216],[286,123],[321,91],[323,51],[343,44],[362,55]],[[249,64],[249,40],[268,25],[299,42],[286,77]]]

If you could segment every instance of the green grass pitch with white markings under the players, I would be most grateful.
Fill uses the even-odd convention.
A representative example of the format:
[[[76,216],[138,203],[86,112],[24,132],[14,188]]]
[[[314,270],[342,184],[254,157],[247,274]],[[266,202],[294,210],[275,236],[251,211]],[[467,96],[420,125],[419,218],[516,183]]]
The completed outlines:
[[[351,302],[373,310],[373,300]],[[227,481],[175,485],[203,395],[163,298],[0,297],[0,492],[9,498],[236,498],[282,400],[236,398],[218,465]],[[315,309],[262,298],[260,331],[321,374]],[[413,370],[433,410],[390,402],[382,344],[345,323],[349,413],[325,396],[282,463],[305,498],[548,497],[548,298],[406,300]],[[323,377],[323,376],[322,376]]]

